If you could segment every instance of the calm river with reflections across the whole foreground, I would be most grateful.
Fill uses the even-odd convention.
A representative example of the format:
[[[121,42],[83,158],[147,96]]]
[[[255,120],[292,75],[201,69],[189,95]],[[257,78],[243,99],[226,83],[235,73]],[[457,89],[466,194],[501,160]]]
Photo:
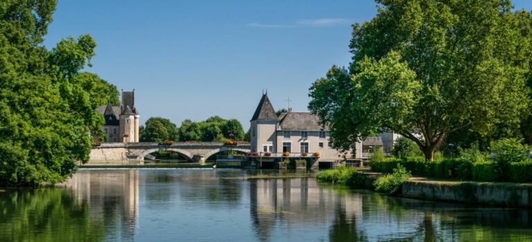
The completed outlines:
[[[0,189],[0,241],[532,241],[530,210],[392,198],[240,169],[82,169]]]

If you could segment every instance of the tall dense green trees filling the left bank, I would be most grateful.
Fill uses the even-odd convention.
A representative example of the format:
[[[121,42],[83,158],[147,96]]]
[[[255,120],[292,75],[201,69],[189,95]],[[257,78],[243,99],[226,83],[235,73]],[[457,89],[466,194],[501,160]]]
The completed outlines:
[[[95,109],[116,101],[116,87],[91,66],[96,42],[90,35],[42,46],[55,0],[0,3],[0,183],[59,183],[86,161],[89,127],[101,134]],[[116,99],[115,99],[116,98]]]

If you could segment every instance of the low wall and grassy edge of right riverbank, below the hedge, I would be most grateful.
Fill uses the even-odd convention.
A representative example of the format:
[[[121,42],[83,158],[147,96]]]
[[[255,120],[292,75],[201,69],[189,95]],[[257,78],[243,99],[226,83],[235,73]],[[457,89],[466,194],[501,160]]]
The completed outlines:
[[[348,185],[375,191],[373,183],[382,176],[376,172],[356,169],[329,170],[318,174],[321,182]],[[407,198],[430,201],[473,203],[488,206],[532,208],[532,183],[496,183],[459,180],[433,180],[412,177],[403,183],[396,194]]]

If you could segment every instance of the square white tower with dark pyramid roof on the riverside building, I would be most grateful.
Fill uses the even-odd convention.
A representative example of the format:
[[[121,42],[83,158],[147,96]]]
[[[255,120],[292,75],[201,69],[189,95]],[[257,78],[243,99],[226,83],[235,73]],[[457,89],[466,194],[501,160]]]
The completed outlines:
[[[251,152],[276,152],[275,129],[277,115],[269,102],[268,93],[263,94],[251,122]]]

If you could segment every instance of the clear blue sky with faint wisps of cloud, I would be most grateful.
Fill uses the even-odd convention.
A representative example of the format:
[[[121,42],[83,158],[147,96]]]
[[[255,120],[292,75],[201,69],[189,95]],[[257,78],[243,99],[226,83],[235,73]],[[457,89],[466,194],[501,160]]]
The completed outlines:
[[[60,0],[44,44],[90,33],[98,46],[87,71],[135,89],[141,122],[220,115],[247,129],[263,89],[275,109],[290,97],[307,111],[312,82],[348,65],[351,24],[375,14],[373,0]]]

